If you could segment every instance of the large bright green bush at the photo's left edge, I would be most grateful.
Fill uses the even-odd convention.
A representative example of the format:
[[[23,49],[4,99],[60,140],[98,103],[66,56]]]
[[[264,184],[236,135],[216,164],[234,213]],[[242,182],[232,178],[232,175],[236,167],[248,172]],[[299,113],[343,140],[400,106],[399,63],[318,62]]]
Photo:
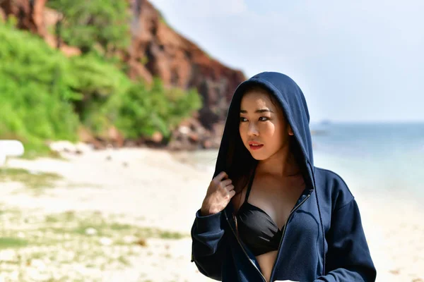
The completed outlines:
[[[66,57],[28,32],[0,25],[0,136],[76,140],[78,116]]]

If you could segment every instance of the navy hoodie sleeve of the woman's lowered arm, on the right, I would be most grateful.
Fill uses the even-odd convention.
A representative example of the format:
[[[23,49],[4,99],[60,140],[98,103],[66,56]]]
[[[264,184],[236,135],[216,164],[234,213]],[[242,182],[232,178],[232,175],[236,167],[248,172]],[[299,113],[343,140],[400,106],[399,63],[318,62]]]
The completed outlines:
[[[375,266],[354,199],[333,212],[327,242],[326,275],[314,282],[375,281]]]

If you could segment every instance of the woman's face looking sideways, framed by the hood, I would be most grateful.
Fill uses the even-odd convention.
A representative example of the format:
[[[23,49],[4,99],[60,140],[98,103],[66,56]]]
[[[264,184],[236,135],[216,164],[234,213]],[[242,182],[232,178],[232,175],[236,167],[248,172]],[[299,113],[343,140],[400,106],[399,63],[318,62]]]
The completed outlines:
[[[274,105],[264,90],[251,90],[243,95],[239,130],[243,144],[258,161],[288,147],[288,135],[293,135],[280,106]]]

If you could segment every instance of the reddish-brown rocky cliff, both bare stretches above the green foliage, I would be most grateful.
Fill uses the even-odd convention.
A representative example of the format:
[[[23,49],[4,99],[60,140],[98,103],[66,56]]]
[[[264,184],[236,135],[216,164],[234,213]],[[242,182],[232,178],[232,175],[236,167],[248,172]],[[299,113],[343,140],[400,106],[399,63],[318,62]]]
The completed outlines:
[[[44,38],[52,47],[57,47],[57,39],[49,34],[47,27],[54,25],[60,15],[47,8],[46,2],[47,0],[0,0],[0,18],[15,16],[19,28],[30,30]],[[245,80],[245,75],[212,59],[196,44],[172,30],[160,12],[147,0],[129,0],[129,3],[133,15],[132,39],[129,49],[122,51],[122,59],[129,65],[129,77],[151,81],[157,76],[165,85],[183,89],[196,87],[204,99],[204,108],[196,114],[196,118],[204,128],[196,129],[200,125],[196,121],[185,121],[184,124],[192,126],[187,126],[187,130],[179,130],[176,134],[192,133],[189,134],[192,136],[189,139],[193,142],[201,139],[199,135],[204,133],[211,136],[220,134],[220,129],[217,130],[214,126],[225,119],[232,92]],[[66,44],[59,44],[59,47],[69,56],[80,53],[78,49]],[[209,147],[211,142],[202,144]],[[216,144],[213,145],[212,142],[211,146],[216,147]]]

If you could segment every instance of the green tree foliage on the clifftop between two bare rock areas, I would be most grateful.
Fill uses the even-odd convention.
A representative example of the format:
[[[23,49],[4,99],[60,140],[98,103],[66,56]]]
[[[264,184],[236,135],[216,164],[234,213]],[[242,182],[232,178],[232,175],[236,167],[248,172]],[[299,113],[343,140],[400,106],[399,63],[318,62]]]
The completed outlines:
[[[100,44],[105,54],[129,44],[129,4],[125,0],[49,0],[64,15],[61,38],[84,53]]]

